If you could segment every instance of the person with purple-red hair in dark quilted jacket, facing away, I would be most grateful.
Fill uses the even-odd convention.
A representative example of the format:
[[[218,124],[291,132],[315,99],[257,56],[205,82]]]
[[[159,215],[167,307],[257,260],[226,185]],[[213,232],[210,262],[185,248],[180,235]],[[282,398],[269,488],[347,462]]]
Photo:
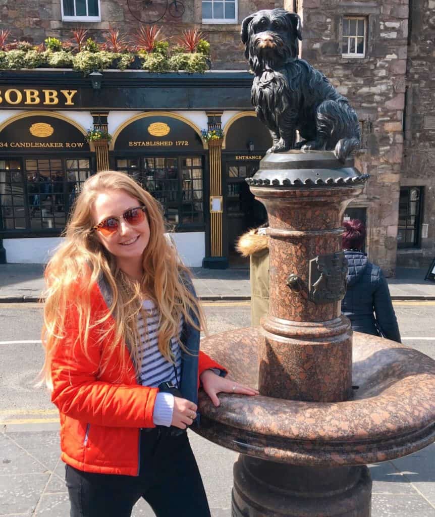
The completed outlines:
[[[382,336],[400,343],[400,332],[382,269],[367,260],[361,251],[365,227],[358,219],[343,223],[343,248],[348,260],[347,291],[341,312],[357,332]]]

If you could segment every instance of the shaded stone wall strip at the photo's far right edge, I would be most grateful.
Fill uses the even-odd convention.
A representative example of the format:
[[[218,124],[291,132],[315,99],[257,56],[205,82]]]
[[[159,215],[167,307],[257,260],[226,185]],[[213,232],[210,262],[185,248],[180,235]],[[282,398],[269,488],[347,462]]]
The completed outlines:
[[[399,250],[398,265],[427,266],[435,256],[435,1],[413,0],[407,61],[403,186],[423,186],[428,236],[417,250]]]

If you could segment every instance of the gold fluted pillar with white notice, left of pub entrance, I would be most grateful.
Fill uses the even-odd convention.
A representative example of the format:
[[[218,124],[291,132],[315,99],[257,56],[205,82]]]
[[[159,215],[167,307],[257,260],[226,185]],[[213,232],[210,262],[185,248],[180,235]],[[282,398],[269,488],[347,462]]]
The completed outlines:
[[[222,140],[210,140],[208,143],[210,153],[210,197],[222,197],[222,166],[221,150]],[[222,201],[221,201],[222,203]],[[211,212],[211,256],[223,256],[222,249],[222,210]]]

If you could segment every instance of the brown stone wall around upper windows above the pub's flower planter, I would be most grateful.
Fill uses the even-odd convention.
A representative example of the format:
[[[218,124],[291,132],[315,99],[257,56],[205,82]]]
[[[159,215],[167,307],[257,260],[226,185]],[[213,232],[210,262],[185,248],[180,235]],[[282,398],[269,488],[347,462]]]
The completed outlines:
[[[169,0],[170,2],[171,0]],[[221,70],[246,70],[243,45],[240,42],[240,22],[245,16],[258,9],[282,7],[283,2],[273,0],[239,0],[237,24],[203,24],[201,0],[181,0],[185,8],[181,19],[173,18],[167,12],[157,23],[163,26],[166,37],[172,37],[174,44],[177,35],[188,28],[197,28],[204,32],[210,41],[213,68]],[[139,0],[131,0],[131,4]],[[104,31],[110,26],[122,33],[132,34],[138,26],[127,7],[127,2],[101,0],[101,22],[63,22],[61,21],[60,0],[0,0],[0,28],[11,29],[10,41],[25,39],[39,44],[46,37],[54,36],[63,40],[71,37],[71,30],[77,26],[88,29],[89,36],[102,42]]]

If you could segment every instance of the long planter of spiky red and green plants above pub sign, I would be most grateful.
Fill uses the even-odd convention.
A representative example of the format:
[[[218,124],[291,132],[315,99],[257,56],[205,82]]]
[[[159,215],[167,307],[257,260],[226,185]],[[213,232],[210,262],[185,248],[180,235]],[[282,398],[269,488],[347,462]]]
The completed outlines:
[[[72,38],[48,37],[40,45],[8,42],[10,31],[0,30],[0,70],[21,68],[72,68],[85,75],[107,69],[144,69],[154,73],[204,73],[210,68],[210,43],[197,30],[183,31],[169,44],[162,27],[141,25],[131,38],[109,27],[104,42],[77,27]]]

